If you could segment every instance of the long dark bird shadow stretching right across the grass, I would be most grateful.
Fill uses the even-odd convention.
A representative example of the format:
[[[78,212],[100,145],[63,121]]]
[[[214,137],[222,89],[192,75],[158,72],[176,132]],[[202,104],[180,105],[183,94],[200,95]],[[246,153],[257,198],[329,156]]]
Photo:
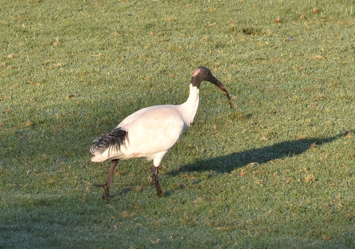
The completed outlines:
[[[312,147],[322,146],[340,137],[344,137],[352,131],[328,138],[309,138],[279,142],[262,148],[232,153],[226,156],[208,158],[191,164],[181,166],[180,169],[172,170],[168,174],[178,175],[182,172],[214,170],[219,173],[230,173],[236,168],[245,167],[250,163],[257,165],[275,159],[299,155]]]

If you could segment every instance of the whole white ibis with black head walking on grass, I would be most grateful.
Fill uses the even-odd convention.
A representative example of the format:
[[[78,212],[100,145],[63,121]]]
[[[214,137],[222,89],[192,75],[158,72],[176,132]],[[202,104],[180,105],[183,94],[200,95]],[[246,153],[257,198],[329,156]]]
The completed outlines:
[[[115,129],[95,140],[91,147],[92,162],[111,160],[111,166],[103,187],[103,199],[109,198],[112,175],[119,159],[146,157],[153,160],[152,181],[158,196],[162,196],[159,185],[158,168],[162,158],[180,138],[182,132],[191,125],[198,107],[198,92],[203,80],[218,86],[227,96],[230,107],[232,101],[222,83],[207,67],[197,67],[192,74],[190,94],[181,105],[155,105],[138,110],[125,118]]]

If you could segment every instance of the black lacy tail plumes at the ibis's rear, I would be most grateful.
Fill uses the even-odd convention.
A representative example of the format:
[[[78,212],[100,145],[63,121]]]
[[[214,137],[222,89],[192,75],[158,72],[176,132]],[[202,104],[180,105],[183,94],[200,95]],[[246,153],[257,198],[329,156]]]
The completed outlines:
[[[107,134],[102,135],[96,139],[95,144],[91,147],[90,151],[93,155],[102,154],[107,148],[109,150],[120,149],[121,145],[125,146],[125,141],[128,139],[128,132],[121,128],[115,128]],[[110,151],[109,151],[110,154]]]

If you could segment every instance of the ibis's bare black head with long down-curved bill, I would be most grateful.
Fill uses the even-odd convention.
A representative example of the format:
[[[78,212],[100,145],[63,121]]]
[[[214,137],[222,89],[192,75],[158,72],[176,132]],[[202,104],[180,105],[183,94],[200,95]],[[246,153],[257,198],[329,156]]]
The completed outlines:
[[[197,88],[199,88],[201,85],[201,82],[203,80],[209,81],[209,82],[213,83],[214,85],[218,86],[220,88],[220,90],[223,91],[225,96],[227,96],[230,107],[233,108],[233,103],[230,99],[229,93],[227,92],[225,87],[222,85],[222,83],[216,77],[214,77],[212,75],[211,70],[209,70],[207,67],[199,66],[196,68],[195,72],[193,72],[193,74],[192,74],[191,84],[192,84],[192,86],[196,86]]]

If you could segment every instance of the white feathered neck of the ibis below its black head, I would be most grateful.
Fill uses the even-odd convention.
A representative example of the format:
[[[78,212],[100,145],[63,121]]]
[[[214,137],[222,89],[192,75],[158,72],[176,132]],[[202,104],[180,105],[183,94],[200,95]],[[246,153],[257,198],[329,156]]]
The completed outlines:
[[[198,92],[199,89],[196,86],[192,86],[192,84],[190,84],[189,98],[187,98],[187,101],[184,104],[179,105],[181,108],[182,117],[184,118],[187,126],[191,125],[197,112]]]

